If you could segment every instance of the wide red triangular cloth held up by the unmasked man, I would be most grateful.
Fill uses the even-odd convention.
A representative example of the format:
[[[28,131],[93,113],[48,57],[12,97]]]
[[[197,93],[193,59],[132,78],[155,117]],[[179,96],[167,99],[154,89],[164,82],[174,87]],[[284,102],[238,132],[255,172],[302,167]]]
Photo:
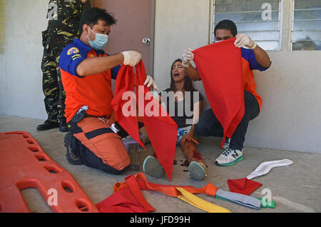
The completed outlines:
[[[234,42],[228,39],[193,51],[208,102],[223,126],[222,146],[225,136],[233,136],[245,112],[242,54]]]

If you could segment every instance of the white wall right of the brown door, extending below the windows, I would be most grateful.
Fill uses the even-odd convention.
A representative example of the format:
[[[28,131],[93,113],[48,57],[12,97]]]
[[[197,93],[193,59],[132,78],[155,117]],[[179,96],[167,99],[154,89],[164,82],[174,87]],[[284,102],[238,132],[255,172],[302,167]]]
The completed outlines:
[[[168,88],[170,66],[186,48],[208,44],[209,12],[209,0],[156,0],[154,76],[160,89]],[[245,146],[321,153],[321,51],[268,54],[272,67],[255,72],[263,107],[250,122]],[[203,93],[200,82],[196,87]]]

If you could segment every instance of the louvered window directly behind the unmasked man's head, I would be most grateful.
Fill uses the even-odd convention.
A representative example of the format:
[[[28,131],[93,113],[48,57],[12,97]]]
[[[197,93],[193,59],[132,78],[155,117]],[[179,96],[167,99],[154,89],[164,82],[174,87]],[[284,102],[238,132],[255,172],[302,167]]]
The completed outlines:
[[[281,49],[283,3],[281,0],[212,1],[212,42],[215,42],[216,24],[224,19],[230,19],[238,27],[238,34],[248,34],[263,49]]]

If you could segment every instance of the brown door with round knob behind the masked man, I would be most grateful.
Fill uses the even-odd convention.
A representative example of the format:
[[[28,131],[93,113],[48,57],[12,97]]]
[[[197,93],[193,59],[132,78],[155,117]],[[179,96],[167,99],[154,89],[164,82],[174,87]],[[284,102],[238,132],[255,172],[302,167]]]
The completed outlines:
[[[155,0],[94,1],[94,6],[106,9],[117,20],[116,25],[111,28],[106,53],[138,51],[143,55],[146,73],[151,76],[153,76],[154,2]]]

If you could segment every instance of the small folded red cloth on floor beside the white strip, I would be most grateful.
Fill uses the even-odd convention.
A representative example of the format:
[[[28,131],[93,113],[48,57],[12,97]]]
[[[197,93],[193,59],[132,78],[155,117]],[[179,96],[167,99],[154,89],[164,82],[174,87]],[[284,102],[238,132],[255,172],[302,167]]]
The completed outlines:
[[[262,183],[249,180],[248,178],[228,180],[228,187],[231,192],[249,196],[253,191],[260,188]]]

